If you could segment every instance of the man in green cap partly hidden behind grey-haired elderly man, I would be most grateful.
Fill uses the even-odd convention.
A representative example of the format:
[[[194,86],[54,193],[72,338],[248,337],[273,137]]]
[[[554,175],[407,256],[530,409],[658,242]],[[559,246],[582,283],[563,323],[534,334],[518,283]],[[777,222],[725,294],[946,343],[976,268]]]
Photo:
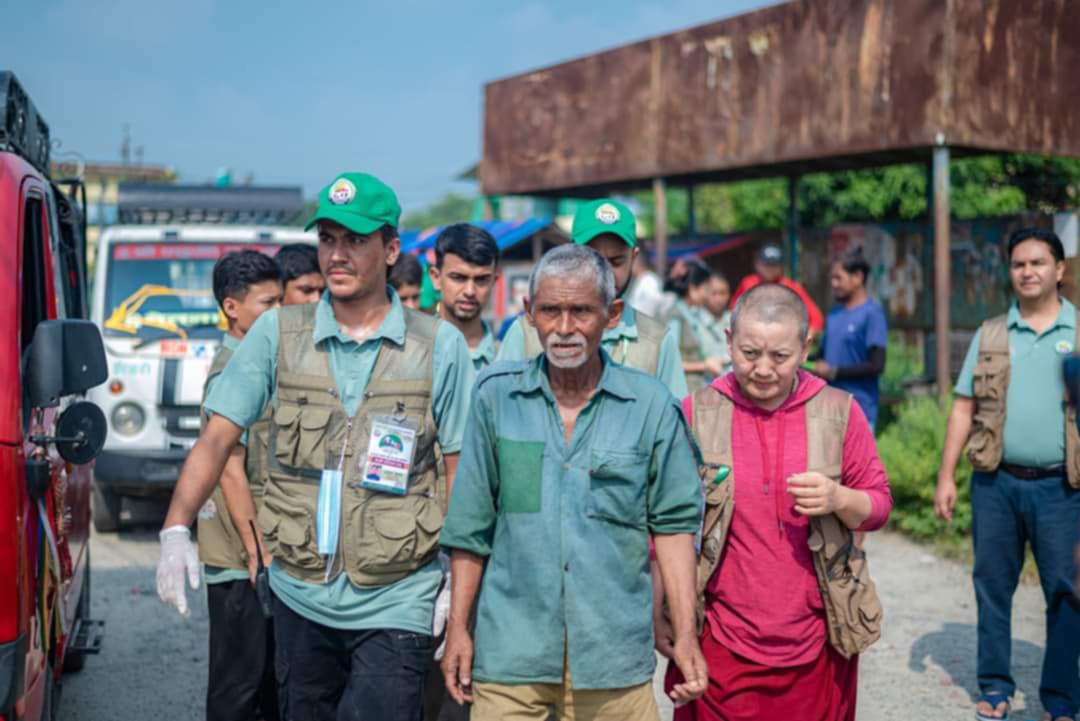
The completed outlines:
[[[579,205],[570,240],[588,245],[608,261],[622,298],[633,280],[634,260],[640,254],[630,208],[610,199]],[[688,395],[678,339],[656,318],[625,304],[619,324],[604,331],[602,345],[612,360],[654,376],[676,398]],[[542,352],[536,328],[523,315],[507,330],[496,359],[524,360]]]

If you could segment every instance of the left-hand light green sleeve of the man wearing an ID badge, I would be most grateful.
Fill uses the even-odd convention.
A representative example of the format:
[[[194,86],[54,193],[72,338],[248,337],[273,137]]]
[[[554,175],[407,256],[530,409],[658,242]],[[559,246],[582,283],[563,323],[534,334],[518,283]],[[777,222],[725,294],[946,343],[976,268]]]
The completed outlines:
[[[278,376],[278,310],[264,313],[240,341],[203,404],[242,428],[259,420],[273,395]]]

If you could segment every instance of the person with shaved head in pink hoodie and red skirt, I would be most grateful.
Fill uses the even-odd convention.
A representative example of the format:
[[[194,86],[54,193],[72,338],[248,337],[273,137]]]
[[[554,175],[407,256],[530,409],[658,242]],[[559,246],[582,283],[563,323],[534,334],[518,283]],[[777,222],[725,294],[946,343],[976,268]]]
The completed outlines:
[[[708,689],[675,719],[852,721],[859,656],[831,643],[811,519],[832,515],[850,532],[881,528],[892,509],[889,481],[859,404],[799,370],[809,328],[793,291],[774,284],[748,291],[728,338],[733,372],[683,403],[707,480],[730,480],[733,506],[705,586]],[[717,422],[721,406],[726,422]],[[837,450],[835,468],[811,470],[821,457],[811,435]],[[718,460],[716,449],[730,455]],[[656,621],[664,653],[671,631]]]

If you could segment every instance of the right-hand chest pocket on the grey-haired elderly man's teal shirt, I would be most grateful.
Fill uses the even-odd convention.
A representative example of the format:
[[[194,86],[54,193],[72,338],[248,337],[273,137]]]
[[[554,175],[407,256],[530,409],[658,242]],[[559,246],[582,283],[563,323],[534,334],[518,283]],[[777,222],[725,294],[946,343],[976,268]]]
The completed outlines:
[[[648,453],[594,449],[589,465],[585,514],[590,518],[645,528],[648,475]]]

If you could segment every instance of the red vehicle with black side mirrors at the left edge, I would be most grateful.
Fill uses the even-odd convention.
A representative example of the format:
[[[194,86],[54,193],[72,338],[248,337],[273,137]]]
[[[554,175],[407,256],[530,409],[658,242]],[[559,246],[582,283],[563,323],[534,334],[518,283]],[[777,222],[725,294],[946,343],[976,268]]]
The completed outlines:
[[[55,715],[64,668],[100,642],[90,610],[91,464],[106,379],[86,316],[81,209],[49,177],[49,128],[0,72],[0,720]],[[76,186],[76,189],[78,187]]]

